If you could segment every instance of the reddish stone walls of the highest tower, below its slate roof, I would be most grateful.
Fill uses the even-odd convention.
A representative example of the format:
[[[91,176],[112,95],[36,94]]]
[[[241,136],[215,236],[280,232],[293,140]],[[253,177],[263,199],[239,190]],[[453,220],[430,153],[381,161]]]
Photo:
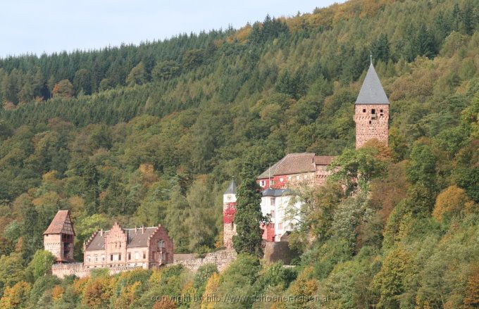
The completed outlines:
[[[354,122],[356,122],[356,149],[366,141],[378,139],[387,145],[389,130],[388,104],[356,104]],[[375,109],[375,117],[371,111]],[[364,111],[365,110],[365,111]],[[382,113],[380,112],[382,110]]]

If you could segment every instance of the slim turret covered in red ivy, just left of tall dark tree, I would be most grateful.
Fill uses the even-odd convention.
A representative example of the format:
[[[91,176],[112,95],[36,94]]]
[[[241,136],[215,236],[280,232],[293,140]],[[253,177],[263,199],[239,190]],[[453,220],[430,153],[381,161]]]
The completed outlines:
[[[232,239],[236,234],[236,183],[231,179],[230,186],[223,194],[223,244],[225,248],[233,247]]]

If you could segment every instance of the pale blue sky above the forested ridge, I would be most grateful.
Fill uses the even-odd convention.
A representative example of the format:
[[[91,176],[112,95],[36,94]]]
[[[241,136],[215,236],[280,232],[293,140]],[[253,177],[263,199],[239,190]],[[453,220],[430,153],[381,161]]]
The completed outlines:
[[[13,0],[0,8],[0,57],[73,51],[235,28],[334,0]]]

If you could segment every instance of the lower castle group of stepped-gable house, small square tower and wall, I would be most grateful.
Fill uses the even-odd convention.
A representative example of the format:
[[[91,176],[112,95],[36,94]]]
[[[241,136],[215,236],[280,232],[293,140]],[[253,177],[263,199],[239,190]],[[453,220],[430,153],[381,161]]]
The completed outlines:
[[[161,225],[123,229],[115,223],[109,231],[94,232],[83,244],[83,263],[73,260],[74,237],[69,210],[58,210],[44,232],[44,249],[56,258],[52,273],[58,277],[86,277],[94,268],[106,267],[116,273],[173,263],[173,241]]]

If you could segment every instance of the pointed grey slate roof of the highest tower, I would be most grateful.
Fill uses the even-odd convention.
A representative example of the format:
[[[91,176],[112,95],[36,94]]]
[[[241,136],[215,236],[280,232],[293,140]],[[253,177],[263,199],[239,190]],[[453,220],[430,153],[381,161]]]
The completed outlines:
[[[373,63],[369,65],[368,73],[366,78],[364,78],[356,104],[389,104],[378,74],[374,70]]]

